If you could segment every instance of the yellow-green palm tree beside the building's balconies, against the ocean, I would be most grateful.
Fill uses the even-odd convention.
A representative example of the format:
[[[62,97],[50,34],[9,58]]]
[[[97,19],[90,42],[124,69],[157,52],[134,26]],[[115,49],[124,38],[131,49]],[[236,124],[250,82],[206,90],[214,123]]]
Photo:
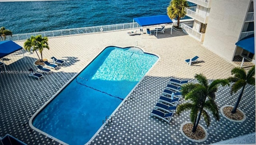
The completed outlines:
[[[167,7],[167,15],[171,19],[177,18],[178,27],[180,25],[180,18],[186,16],[186,7],[188,7],[186,0],[171,0],[170,5]]]

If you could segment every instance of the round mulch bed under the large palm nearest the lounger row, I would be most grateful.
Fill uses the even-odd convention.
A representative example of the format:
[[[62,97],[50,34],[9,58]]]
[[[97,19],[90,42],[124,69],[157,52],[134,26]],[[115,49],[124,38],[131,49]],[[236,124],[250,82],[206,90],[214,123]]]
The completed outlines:
[[[193,129],[192,123],[187,123],[182,127],[182,131],[184,132],[184,134],[187,137],[189,137],[191,139],[195,139],[195,140],[204,139],[205,132],[201,126],[199,126],[199,125],[197,126],[195,133],[192,133],[192,129]]]

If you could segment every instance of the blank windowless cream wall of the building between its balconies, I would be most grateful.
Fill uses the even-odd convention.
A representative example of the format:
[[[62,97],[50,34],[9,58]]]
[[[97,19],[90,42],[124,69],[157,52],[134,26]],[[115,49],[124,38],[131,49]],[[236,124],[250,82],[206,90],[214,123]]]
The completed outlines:
[[[213,0],[203,45],[232,61],[250,0]]]

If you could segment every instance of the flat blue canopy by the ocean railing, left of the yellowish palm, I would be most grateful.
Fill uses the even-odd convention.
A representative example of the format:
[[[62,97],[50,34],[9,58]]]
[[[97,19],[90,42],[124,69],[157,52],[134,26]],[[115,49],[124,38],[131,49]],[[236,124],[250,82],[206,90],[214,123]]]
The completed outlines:
[[[172,20],[167,15],[139,17],[133,18],[133,20],[135,20],[140,26],[172,23]]]

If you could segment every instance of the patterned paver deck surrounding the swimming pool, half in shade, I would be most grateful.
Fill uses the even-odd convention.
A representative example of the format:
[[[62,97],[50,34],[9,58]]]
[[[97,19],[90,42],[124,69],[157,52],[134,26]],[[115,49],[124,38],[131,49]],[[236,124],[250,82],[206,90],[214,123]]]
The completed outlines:
[[[220,114],[220,121],[215,121],[211,113],[211,124],[206,126],[208,133],[203,142],[192,142],[180,133],[180,125],[190,121],[189,111],[180,116],[174,114],[170,124],[150,117],[150,113],[170,78],[196,82],[194,75],[204,73],[210,80],[229,77],[230,71],[236,66],[220,58],[201,42],[194,40],[183,32],[170,28],[165,33],[149,36],[147,34],[129,36],[128,30],[49,38],[50,50],[44,50],[44,58],[55,56],[66,63],[52,74],[44,75],[40,81],[28,74],[0,74],[0,136],[5,134],[17,137],[29,145],[60,144],[53,139],[33,130],[28,122],[32,115],[65,83],[88,65],[107,46],[136,46],[144,52],[156,54],[159,61],[146,74],[122,106],[114,113],[113,122],[105,126],[90,144],[210,144],[255,132],[255,87],[248,85],[239,104],[246,114],[242,123],[232,122]],[[23,46],[24,41],[16,42]],[[188,66],[184,60],[199,56],[200,63]],[[33,62],[36,54],[15,52],[5,57],[7,70],[17,72],[29,68],[36,69]],[[0,67],[0,71],[4,71]],[[218,107],[234,105],[238,93],[231,96],[230,87],[220,87],[216,93]],[[179,103],[183,103],[182,98]]]

